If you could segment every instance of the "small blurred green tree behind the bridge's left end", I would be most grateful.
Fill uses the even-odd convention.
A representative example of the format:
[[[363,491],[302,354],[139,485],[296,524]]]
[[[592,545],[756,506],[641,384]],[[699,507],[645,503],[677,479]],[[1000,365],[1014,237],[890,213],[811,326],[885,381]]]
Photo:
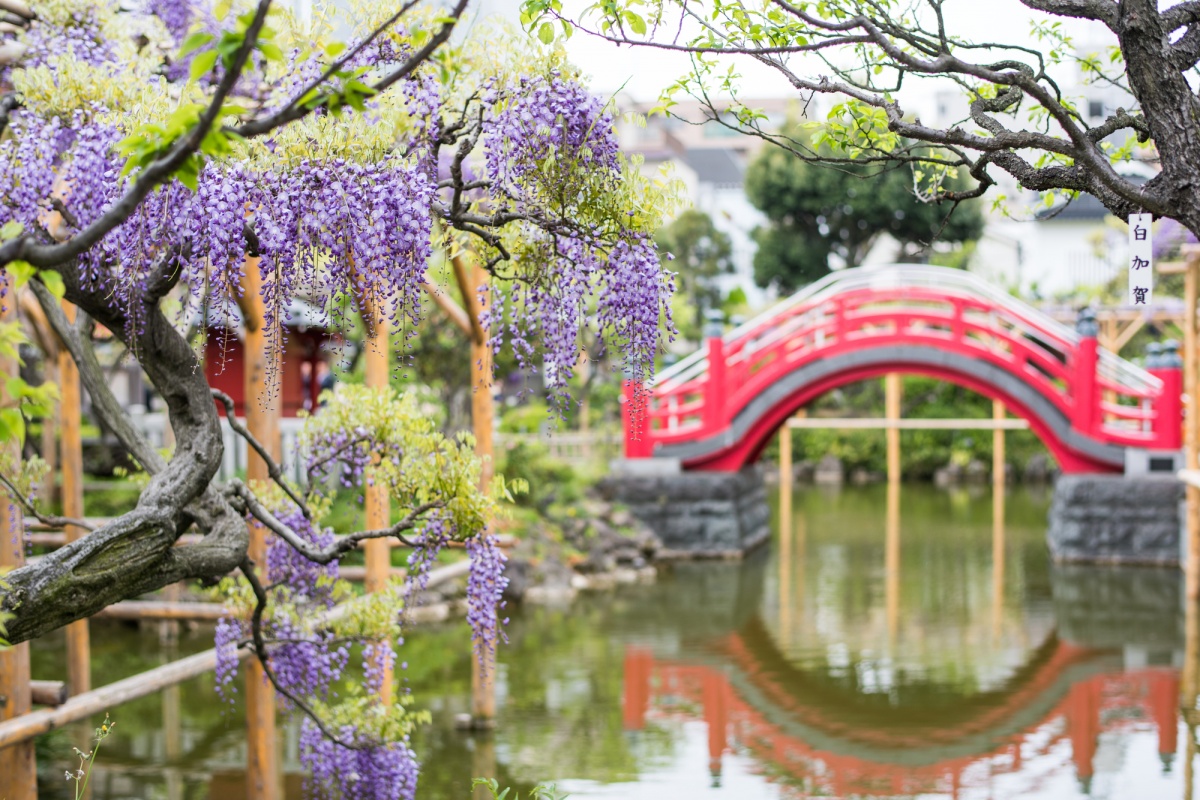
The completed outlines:
[[[661,228],[655,241],[660,253],[674,257],[671,266],[679,273],[680,301],[695,309],[691,319],[680,314],[676,324],[685,338],[700,341],[704,311],[721,306],[721,290],[714,278],[733,269],[730,237],[716,229],[707,213],[689,209]]]

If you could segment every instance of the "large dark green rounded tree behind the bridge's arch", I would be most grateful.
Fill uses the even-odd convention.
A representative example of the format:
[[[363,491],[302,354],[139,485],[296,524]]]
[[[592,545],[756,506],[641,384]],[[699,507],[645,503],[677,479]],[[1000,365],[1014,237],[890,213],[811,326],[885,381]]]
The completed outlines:
[[[907,164],[822,166],[782,148],[764,148],[746,170],[746,197],[767,215],[755,230],[755,282],[793,291],[830,270],[830,257],[859,265],[882,234],[913,260],[934,240],[962,242],[983,233],[976,203],[925,203]]]

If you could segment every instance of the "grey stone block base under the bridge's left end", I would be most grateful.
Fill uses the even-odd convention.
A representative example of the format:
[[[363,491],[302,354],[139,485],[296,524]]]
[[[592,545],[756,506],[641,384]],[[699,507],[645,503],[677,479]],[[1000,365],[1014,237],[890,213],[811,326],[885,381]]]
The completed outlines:
[[[659,558],[738,558],[770,539],[762,470],[611,475],[596,487],[662,540]]]

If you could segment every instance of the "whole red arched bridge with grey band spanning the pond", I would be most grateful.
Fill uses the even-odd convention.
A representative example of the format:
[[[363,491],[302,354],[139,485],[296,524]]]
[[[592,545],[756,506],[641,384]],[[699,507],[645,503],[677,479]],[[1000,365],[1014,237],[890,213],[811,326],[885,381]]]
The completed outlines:
[[[1177,365],[1142,369],[961,270],[833,272],[625,395],[625,456],[733,471],[797,409],[889,372],[1002,401],[1066,473],[1121,471],[1126,451],[1178,451]],[[1091,330],[1088,330],[1091,329]]]

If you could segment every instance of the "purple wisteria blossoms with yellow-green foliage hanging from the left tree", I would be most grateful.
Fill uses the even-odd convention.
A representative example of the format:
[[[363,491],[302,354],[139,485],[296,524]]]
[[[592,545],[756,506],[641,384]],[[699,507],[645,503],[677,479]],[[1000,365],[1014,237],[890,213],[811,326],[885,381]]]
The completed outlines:
[[[120,13],[106,0],[52,5],[20,34],[23,60],[0,72],[0,89],[22,98],[0,119],[0,225],[22,235],[70,241],[106,219],[149,163],[131,154],[155,137],[164,137],[155,152],[166,152],[170,126],[184,119],[186,128],[230,78],[218,145],[205,144],[64,265],[79,291],[121,311],[128,330],[118,336],[136,341],[167,297],[181,329],[209,319],[209,309],[234,308],[247,283],[262,285],[274,348],[295,300],[336,323],[384,314],[412,331],[434,249],[466,247],[497,278],[485,297],[493,345],[544,367],[559,402],[589,325],[634,381],[653,366],[672,330],[672,278],[650,233],[672,190],[622,158],[612,113],[560,53],[456,46],[454,58],[416,64],[376,92],[370,82],[427,41],[421,19],[343,47],[272,14],[284,32],[263,34],[238,73],[217,53],[232,20],[253,17],[236,0],[227,18],[188,0]],[[347,13],[370,30],[390,11]],[[427,26],[443,14],[431,8]],[[252,130],[296,108],[304,114],[288,125]],[[389,705],[374,690],[396,662],[400,607],[416,602],[451,541],[470,558],[468,621],[490,662],[503,638],[504,554],[488,529],[503,480],[482,491],[470,444],[443,439],[409,398],[343,389],[308,422],[304,486],[223,489],[275,536],[262,585],[245,566],[244,579],[226,579],[236,613],[216,628],[217,686],[235,694],[240,650],[253,644],[284,705],[305,716],[302,758],[318,793],[412,798],[410,698]],[[400,528],[377,534],[413,546],[408,582],[374,610],[335,621],[344,537],[322,527],[322,512],[368,485],[402,515]],[[359,664],[366,691],[347,694]]]

